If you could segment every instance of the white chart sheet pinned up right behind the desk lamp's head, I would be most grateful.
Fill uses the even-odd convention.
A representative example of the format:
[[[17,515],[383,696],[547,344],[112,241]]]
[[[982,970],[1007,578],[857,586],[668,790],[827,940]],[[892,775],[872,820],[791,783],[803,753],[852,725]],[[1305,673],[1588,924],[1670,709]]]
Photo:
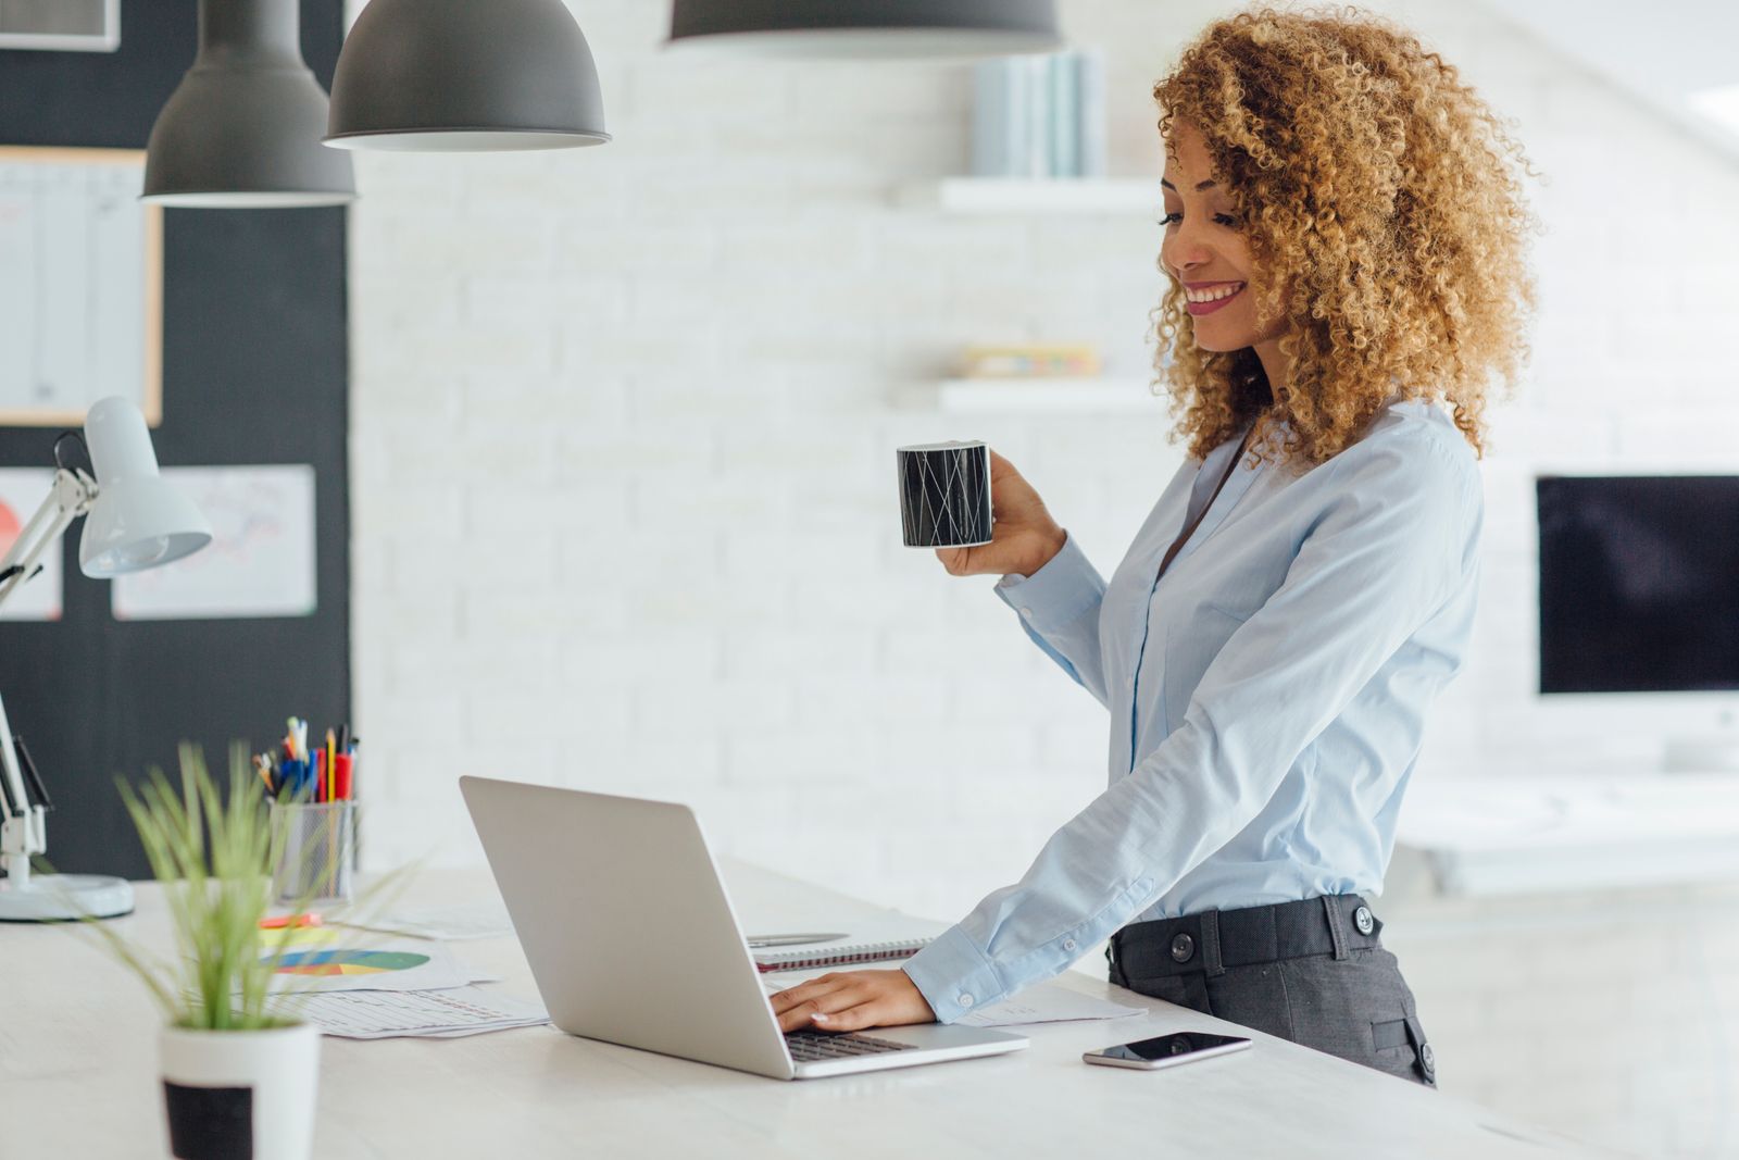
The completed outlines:
[[[212,525],[191,557],[115,577],[117,621],[313,616],[315,470],[163,468]]]

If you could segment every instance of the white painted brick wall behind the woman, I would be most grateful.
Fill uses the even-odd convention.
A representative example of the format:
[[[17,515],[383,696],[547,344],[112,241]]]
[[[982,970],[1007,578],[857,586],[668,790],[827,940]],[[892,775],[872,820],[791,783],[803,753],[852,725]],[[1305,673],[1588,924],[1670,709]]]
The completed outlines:
[[[1104,718],[991,579],[899,546],[892,449],[986,438],[1104,572],[1177,452],[1162,402],[960,419],[889,397],[972,341],[1092,341],[1144,374],[1158,228],[894,207],[897,183],[967,165],[962,68],[697,64],[656,52],[663,3],[572,7],[612,144],[358,158],[370,861],[475,861],[454,777],[482,772],[676,797],[722,850],[960,913],[1103,784]],[[1485,9],[1389,7],[1549,174],[1536,360],[1485,471],[1476,652],[1423,776],[1649,763],[1718,701],[1539,701],[1532,477],[1739,470],[1718,344],[1739,169]],[[1113,170],[1156,172],[1151,82],[1226,5],[1063,9],[1109,50]],[[1732,899],[1581,925],[1565,904],[1395,903],[1445,1087],[1649,1155],[1739,1155]],[[1638,950],[1661,908],[1676,941]]]

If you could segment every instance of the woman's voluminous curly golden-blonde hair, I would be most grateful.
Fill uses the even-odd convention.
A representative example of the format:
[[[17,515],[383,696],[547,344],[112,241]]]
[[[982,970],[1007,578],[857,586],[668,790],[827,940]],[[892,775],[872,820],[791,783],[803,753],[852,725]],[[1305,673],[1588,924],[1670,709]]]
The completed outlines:
[[[1276,457],[1316,464],[1400,395],[1445,400],[1483,454],[1489,388],[1529,357],[1534,170],[1456,68],[1356,9],[1261,9],[1210,24],[1153,97],[1167,148],[1195,125],[1228,186],[1259,320],[1290,323],[1271,384],[1254,350],[1195,344],[1172,280],[1153,320],[1174,438],[1200,457],[1283,419]]]

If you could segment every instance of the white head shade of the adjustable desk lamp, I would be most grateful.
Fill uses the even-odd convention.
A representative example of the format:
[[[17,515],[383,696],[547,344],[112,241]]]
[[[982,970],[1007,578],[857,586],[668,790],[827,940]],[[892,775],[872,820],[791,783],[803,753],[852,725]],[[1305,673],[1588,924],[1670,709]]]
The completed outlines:
[[[210,543],[205,515],[158,475],[151,435],[134,403],[97,400],[85,416],[85,442],[97,473],[97,497],[78,541],[85,576],[155,569]]]

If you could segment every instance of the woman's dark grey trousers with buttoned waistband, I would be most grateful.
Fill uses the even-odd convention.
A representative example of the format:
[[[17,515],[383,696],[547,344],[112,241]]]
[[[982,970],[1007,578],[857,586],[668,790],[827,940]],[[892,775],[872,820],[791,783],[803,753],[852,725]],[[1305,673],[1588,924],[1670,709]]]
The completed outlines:
[[[1383,923],[1356,894],[1136,922],[1111,983],[1436,1087],[1436,1059]]]

